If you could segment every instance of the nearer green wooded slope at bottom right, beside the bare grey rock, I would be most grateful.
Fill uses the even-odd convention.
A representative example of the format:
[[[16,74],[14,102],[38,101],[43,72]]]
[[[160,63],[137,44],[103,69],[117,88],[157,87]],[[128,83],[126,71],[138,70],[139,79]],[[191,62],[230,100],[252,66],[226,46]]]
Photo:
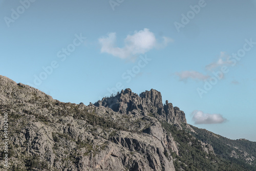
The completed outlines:
[[[207,154],[198,138],[184,130],[178,130],[175,125],[162,122],[162,126],[179,144],[179,156],[171,152],[176,170],[255,170],[255,167],[236,159],[222,158],[219,154]]]

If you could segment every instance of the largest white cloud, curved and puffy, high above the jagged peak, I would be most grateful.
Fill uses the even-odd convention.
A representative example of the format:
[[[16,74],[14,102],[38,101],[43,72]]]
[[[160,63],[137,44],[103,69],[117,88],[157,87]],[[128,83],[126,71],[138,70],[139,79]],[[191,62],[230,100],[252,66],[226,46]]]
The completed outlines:
[[[163,42],[159,44],[154,33],[148,29],[135,31],[133,35],[127,35],[124,39],[124,47],[116,47],[116,33],[109,33],[107,37],[99,38],[101,45],[101,53],[109,53],[113,56],[125,59],[134,58],[140,54],[144,54],[153,48],[166,47],[173,39],[163,37]]]

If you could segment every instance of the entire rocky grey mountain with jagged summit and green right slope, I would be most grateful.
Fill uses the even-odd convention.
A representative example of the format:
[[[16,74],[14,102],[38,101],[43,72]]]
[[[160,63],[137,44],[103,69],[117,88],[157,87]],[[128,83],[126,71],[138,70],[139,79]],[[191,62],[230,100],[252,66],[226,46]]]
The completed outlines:
[[[2,128],[8,117],[1,161],[8,154],[9,170],[256,170],[256,142],[187,124],[153,89],[84,105],[0,76],[0,110]]]

